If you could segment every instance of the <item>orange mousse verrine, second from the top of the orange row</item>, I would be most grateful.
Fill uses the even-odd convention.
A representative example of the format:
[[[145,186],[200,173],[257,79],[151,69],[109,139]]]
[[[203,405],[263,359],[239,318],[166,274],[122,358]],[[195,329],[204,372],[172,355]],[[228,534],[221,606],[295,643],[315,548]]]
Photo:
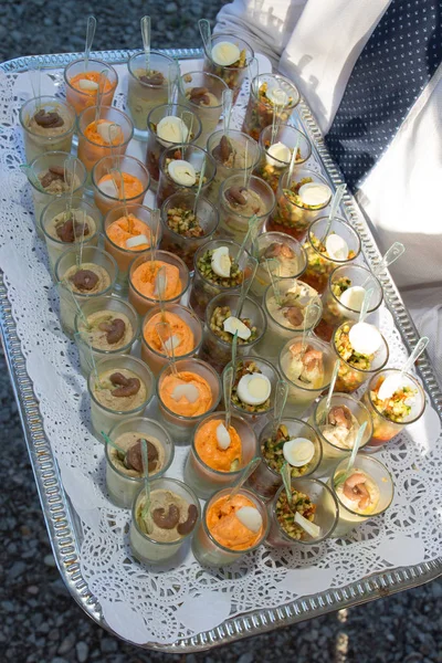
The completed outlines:
[[[113,106],[101,106],[98,122],[95,123],[96,109],[96,106],[90,106],[78,116],[78,159],[88,173],[103,157],[124,155],[134,135],[134,125],[126,113]],[[118,128],[110,130],[108,123]],[[101,125],[105,128],[99,129]]]

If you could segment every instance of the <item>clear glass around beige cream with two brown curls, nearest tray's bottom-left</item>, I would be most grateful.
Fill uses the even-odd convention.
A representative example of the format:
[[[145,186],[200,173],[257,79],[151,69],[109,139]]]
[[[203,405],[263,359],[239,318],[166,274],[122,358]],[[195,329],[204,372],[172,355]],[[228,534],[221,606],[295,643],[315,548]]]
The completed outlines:
[[[146,491],[143,487],[139,491],[138,495],[135,497],[134,505],[131,508],[129,541],[134,557],[143,564],[148,565],[161,564],[173,557],[173,555],[178,552],[178,550],[181,548],[186,539],[193,536],[193,533],[197,530],[198,523],[201,517],[201,507],[198,497],[194,495],[193,491],[191,491],[189,486],[183,484],[181,481],[166,477],[156,478],[150,484],[151,499],[155,498],[156,491],[168,491],[170,493],[175,493],[176,495],[181,497],[189,506],[196,506],[197,520],[191,532],[180,536],[176,540],[169,543],[158,541],[154,539],[139,527],[138,519],[146,499]]]

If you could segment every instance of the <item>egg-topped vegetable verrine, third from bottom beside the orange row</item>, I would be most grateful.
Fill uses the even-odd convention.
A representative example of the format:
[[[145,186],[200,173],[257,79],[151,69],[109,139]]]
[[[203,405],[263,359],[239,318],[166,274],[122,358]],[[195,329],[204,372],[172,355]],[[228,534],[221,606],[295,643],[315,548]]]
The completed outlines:
[[[232,366],[231,361],[229,361],[229,364],[224,368],[224,371],[228,370],[230,366]],[[251,380],[249,376],[252,375],[261,375],[263,376],[262,379],[265,379],[269,393],[267,398],[265,398],[264,401],[262,400],[262,398],[256,398],[249,393],[248,382],[249,380]],[[242,378],[244,379],[241,382]],[[277,370],[274,368],[274,366],[272,366],[272,364],[270,364],[270,361],[266,361],[265,359],[260,359],[257,357],[246,357],[244,359],[238,359],[235,361],[233,371],[231,409],[241,417],[243,417],[243,419],[245,419],[245,421],[251,427],[253,427],[253,430],[255,431],[256,435],[267,423],[269,418],[273,415],[275,389],[278,379],[280,376]],[[266,394],[264,393],[264,396]],[[244,400],[242,400],[241,397],[245,398],[246,401],[255,402],[245,402]]]

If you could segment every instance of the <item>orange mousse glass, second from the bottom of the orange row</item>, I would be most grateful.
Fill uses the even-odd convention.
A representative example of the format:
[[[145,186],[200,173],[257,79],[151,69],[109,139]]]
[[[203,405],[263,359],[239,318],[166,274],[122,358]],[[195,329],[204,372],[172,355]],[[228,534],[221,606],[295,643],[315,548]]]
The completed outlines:
[[[198,453],[197,440],[201,435],[201,429],[208,422],[224,423],[225,412],[214,412],[206,417],[194,431],[192,445],[189,450],[185,466],[185,481],[193,488],[198,497],[208,499],[215,491],[233,486],[245,465],[256,455],[257,441],[253,428],[238,414],[233,413],[230,425],[232,425],[241,439],[241,463],[235,471],[222,472],[209,465]],[[207,460],[207,459],[206,459]]]

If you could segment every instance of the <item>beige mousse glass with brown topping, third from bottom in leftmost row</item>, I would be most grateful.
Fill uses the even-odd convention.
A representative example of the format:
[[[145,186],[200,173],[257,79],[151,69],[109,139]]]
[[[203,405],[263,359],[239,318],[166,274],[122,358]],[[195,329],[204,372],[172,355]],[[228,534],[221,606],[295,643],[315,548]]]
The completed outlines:
[[[101,396],[103,389],[102,376],[108,371],[120,372],[122,370],[129,371],[130,377],[137,377],[141,382],[141,386],[144,385],[146,392],[145,394],[140,394],[140,398],[138,399],[139,402],[137,402],[137,399],[135,399],[134,402],[123,401],[123,398],[126,398],[123,397],[120,399],[122,402],[118,403],[118,408],[114,408],[110,404],[109,407],[106,407],[103,404],[103,398]],[[131,373],[134,373],[134,376]],[[101,359],[101,361],[96,364],[96,369],[90,372],[87,379],[87,391],[91,397],[92,432],[98,440],[102,440],[102,431],[107,435],[113,427],[127,419],[127,417],[143,414],[154,398],[155,378],[150,368],[140,359],[130,357],[129,355],[117,355],[115,357]]]

